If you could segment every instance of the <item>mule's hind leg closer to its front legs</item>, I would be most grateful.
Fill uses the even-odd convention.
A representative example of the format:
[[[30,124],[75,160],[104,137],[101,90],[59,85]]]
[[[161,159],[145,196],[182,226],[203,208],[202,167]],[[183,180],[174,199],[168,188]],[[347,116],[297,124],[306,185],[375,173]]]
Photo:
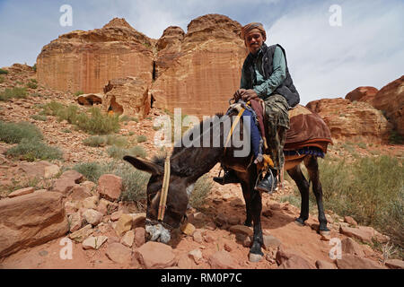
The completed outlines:
[[[296,218],[296,223],[304,225],[304,222],[309,218],[309,182],[304,178],[300,165],[296,165],[293,169],[287,170],[287,173],[294,179],[302,197],[300,216]]]

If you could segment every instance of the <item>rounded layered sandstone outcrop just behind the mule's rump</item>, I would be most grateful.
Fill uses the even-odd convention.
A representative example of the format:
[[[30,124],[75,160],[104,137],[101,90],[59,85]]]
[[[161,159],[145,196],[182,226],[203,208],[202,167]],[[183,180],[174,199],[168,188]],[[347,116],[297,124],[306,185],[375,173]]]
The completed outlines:
[[[338,98],[313,100],[306,107],[324,119],[333,139],[356,143],[382,143],[388,139],[391,126],[382,111],[368,103]]]

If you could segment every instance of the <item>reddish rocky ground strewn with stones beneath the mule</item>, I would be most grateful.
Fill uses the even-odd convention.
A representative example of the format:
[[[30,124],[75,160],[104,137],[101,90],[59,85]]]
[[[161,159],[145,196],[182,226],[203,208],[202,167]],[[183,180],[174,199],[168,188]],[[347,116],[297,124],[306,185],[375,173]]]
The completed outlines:
[[[34,76],[30,70],[12,72],[6,75],[0,88],[25,83]],[[386,243],[384,235],[371,227],[358,226],[350,217],[342,218],[328,211],[330,234],[327,236],[317,232],[319,223],[315,214],[311,214],[305,226],[294,223],[299,209],[279,202],[280,197],[293,192],[294,183],[288,181],[277,194],[263,195],[261,218],[265,248],[259,262],[249,260],[252,229],[242,226],[245,206],[238,185],[222,187],[214,183],[205,208],[188,211],[189,224],[183,226],[170,245],[145,243],[145,213],[136,204],[118,201],[122,184],[119,177],[104,175],[94,184],[67,170],[78,162],[110,161],[106,147],[84,145],[83,139],[89,135],[67,122],[57,122],[55,117],[48,117],[47,121],[31,118],[39,111],[37,104],[50,100],[76,104],[75,97],[41,87],[29,91],[40,96],[0,101],[0,120],[25,120],[39,126],[45,142],[64,152],[64,161],[15,161],[4,156],[13,145],[0,143],[0,230],[9,234],[9,238],[18,238],[15,242],[0,240],[1,268],[404,267],[403,261],[389,259],[373,248],[373,240]],[[119,135],[127,136],[129,142],[137,135],[146,135],[148,141],[137,144],[151,158],[158,152],[153,144],[153,122],[161,114],[161,110],[152,109],[150,117],[121,125]],[[70,133],[62,132],[65,129]],[[402,146],[356,146],[356,150],[362,155],[378,152],[402,157],[404,154]],[[328,156],[350,159],[350,154],[342,143],[337,143],[330,148]],[[216,176],[219,168],[216,165],[208,177]],[[43,178],[41,190],[26,187],[10,193],[17,183],[38,176]],[[330,257],[330,251],[338,251],[338,242],[341,242],[341,257],[335,259]]]

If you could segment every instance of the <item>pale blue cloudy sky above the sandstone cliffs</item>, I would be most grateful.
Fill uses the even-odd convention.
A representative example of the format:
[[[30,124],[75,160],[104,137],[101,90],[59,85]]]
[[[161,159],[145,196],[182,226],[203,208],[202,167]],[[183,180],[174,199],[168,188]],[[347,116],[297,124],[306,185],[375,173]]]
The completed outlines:
[[[72,25],[60,18],[72,8]],[[71,30],[101,28],[114,17],[159,39],[169,26],[224,14],[262,22],[268,45],[285,48],[301,104],[344,98],[359,86],[381,89],[403,75],[402,0],[0,0],[0,67],[34,65],[43,46]]]

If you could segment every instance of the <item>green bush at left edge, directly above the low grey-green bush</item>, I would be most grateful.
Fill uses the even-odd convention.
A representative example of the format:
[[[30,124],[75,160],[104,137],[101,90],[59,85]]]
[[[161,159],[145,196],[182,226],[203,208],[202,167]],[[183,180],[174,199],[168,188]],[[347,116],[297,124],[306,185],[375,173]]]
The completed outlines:
[[[5,143],[20,143],[22,139],[43,139],[37,126],[27,122],[6,123],[0,121],[0,140]]]

